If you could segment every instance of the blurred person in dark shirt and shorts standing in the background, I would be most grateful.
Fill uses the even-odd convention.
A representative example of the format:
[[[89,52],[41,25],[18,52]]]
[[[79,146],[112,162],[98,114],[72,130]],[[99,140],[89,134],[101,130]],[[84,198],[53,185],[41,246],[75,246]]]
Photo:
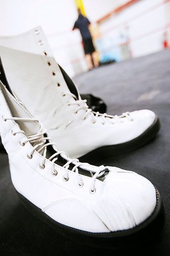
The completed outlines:
[[[98,54],[96,53],[95,48],[93,46],[92,36],[88,28],[88,26],[90,25],[90,22],[87,17],[82,15],[80,9],[78,9],[78,13],[79,13],[79,17],[76,20],[72,30],[75,30],[75,29],[80,30],[88,69],[92,70],[93,65],[95,68],[99,67]]]

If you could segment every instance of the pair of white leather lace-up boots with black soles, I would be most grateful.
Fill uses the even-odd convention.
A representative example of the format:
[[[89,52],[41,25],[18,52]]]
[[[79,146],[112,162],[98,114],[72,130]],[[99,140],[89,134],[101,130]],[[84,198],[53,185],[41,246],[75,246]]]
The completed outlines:
[[[0,56],[0,133],[20,198],[71,236],[136,236],[155,221],[161,202],[149,180],[77,157],[94,163],[133,150],[156,135],[158,117],[149,110],[92,112],[40,27],[0,37]]]

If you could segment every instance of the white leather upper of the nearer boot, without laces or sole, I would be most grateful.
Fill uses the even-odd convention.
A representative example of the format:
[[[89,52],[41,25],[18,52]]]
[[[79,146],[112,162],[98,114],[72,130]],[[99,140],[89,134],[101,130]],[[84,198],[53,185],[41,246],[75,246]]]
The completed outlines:
[[[13,115],[32,118],[0,82],[0,133],[8,153],[13,185],[45,214],[70,227],[106,233],[135,227],[151,216],[156,206],[156,193],[149,180],[134,172],[107,166],[109,174],[104,181],[95,180],[96,191],[91,194],[91,177],[79,174],[84,182],[80,187],[75,172],[68,170],[69,180],[64,181],[64,167],[45,159],[45,168],[41,169],[42,155],[37,151],[32,159],[28,158],[33,146],[30,142],[20,144],[27,136],[15,134],[20,132],[21,124],[6,120]],[[37,121],[24,123],[23,130],[29,135],[31,131],[36,134]],[[87,172],[99,168],[84,165]],[[57,170],[57,176],[52,175],[52,167]]]

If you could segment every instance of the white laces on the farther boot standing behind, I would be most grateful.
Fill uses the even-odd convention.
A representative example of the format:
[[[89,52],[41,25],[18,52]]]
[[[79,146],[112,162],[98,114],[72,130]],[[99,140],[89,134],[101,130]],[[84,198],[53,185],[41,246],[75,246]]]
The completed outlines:
[[[70,95],[72,96],[76,101],[75,102],[67,102],[68,105],[78,105],[78,108],[75,110],[75,114],[78,113],[80,110],[84,110],[85,114],[82,116],[82,119],[85,120],[87,117],[91,116],[91,120],[93,123],[95,123],[98,120],[98,117],[102,117],[102,124],[105,124],[107,121],[111,124],[114,124],[115,122],[124,122],[123,117],[127,118],[130,121],[133,121],[130,112],[123,113],[120,116],[112,116],[108,115],[106,113],[100,114],[99,112],[94,112],[91,109],[89,109],[88,105],[86,104],[87,100],[78,100],[77,97],[72,93],[63,93],[63,96]]]

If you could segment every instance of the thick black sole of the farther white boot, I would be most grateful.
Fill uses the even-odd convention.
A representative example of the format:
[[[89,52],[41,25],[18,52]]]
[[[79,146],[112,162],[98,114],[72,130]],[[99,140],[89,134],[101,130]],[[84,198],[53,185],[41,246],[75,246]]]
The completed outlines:
[[[160,130],[160,121],[159,121],[159,118],[156,116],[153,124],[137,138],[125,143],[120,143],[120,144],[115,144],[110,146],[102,146],[102,147],[96,148],[95,150],[89,152],[88,154],[80,157],[79,160],[80,162],[89,162],[91,164],[95,164],[100,159],[129,153],[133,150],[136,150],[138,147],[141,147],[147,144],[150,140],[152,140],[156,136],[159,130]]]

